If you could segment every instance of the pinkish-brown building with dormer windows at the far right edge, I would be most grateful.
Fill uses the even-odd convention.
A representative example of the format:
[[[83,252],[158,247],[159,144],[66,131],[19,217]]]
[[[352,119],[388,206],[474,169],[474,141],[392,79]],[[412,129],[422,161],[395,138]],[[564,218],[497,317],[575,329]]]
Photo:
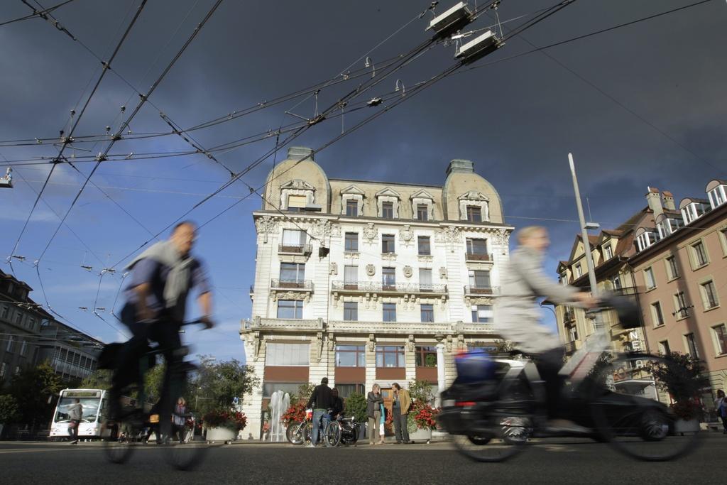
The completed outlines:
[[[638,228],[629,265],[651,351],[704,361],[710,388],[702,401],[711,409],[727,388],[727,181],[705,191],[655,215],[655,229]]]

